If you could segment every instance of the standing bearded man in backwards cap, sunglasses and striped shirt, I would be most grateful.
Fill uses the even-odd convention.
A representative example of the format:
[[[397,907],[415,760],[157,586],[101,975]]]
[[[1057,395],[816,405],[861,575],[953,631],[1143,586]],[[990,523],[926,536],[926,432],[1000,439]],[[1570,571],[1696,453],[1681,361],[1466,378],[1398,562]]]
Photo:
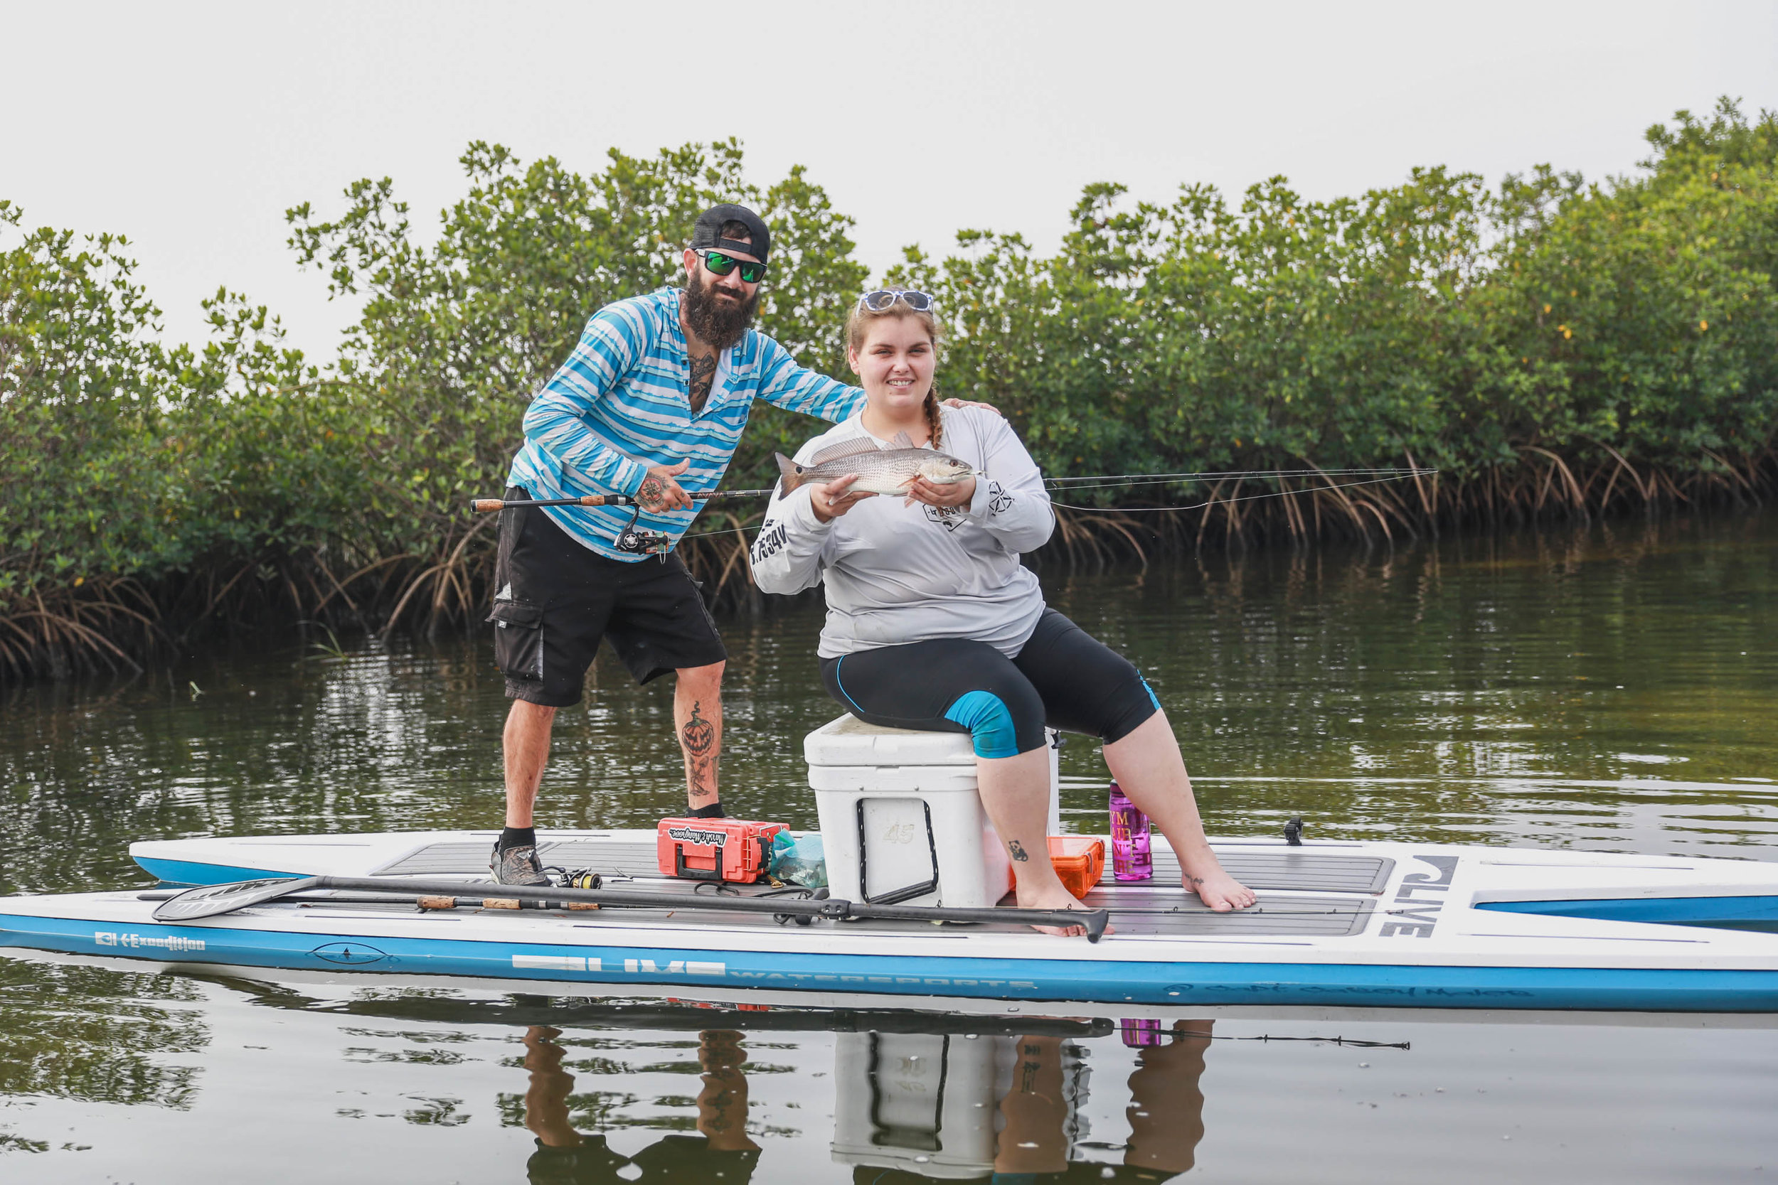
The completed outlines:
[[[544,885],[532,808],[557,709],[581,698],[599,640],[649,682],[674,672],[674,728],[692,815],[722,817],[722,666],[727,652],[697,585],[670,551],[717,489],[754,400],[839,423],[864,391],[798,366],[749,329],[772,233],[752,210],[699,215],[686,286],[608,304],[525,412],[507,501],[631,494],[637,531],[665,549],[621,549],[631,512],[509,506],[494,576],[494,659],[512,709],[501,737],[507,826],[491,869],[501,885]]]

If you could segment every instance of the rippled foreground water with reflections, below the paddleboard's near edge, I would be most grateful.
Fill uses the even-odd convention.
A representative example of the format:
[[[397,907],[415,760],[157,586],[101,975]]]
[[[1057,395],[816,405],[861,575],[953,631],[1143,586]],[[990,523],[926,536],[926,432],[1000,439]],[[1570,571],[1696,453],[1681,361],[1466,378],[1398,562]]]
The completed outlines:
[[[20,966],[9,1183],[1410,1180],[1454,1148],[1451,1181],[1705,1181],[1778,1151],[1771,1018],[1115,1022]],[[1625,1141],[1625,1114],[1661,1123]]]

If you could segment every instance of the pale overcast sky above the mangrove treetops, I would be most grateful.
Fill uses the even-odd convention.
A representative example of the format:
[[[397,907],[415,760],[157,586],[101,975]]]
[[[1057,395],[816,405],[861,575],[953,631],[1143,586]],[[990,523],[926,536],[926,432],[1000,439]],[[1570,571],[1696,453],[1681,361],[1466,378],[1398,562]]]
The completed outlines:
[[[1166,201],[1280,172],[1334,197],[1433,163],[1600,178],[1677,108],[1778,108],[1778,0],[0,0],[0,197],[126,233],[171,339],[201,339],[228,284],[322,357],[354,311],[297,268],[284,210],[391,176],[430,233],[475,139],[596,171],[734,135],[759,185],[807,165],[880,272],[960,227],[1049,251],[1090,181]]]

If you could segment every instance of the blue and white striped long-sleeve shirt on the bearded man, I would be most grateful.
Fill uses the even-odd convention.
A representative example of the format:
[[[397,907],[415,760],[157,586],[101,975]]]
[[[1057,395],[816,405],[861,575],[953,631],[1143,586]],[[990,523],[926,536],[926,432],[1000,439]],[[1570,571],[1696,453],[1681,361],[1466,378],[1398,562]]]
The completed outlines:
[[[693,416],[679,297],[663,288],[592,314],[580,345],[525,410],[525,446],[507,485],[523,485],[532,497],[635,494],[649,465],[690,460],[677,481],[695,497],[722,481],[754,400],[834,423],[864,405],[862,389],[798,366],[784,346],[749,329],[717,355],[709,398]],[[647,558],[613,545],[629,508],[546,506],[544,513],[601,556]],[[695,517],[697,510],[644,510],[637,528],[677,544]]]

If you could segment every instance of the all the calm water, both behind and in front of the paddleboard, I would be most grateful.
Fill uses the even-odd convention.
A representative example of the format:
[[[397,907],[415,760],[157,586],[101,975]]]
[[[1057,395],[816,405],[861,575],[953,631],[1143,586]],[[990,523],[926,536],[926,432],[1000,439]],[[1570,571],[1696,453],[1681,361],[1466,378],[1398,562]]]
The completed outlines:
[[[1774,860],[1774,577],[1766,515],[1045,588],[1145,668],[1213,833],[1300,814],[1319,837]],[[809,604],[725,629],[731,814],[814,824],[800,739],[837,714],[818,629]],[[491,826],[503,707],[485,643],[288,645],[12,693],[0,892],[140,883],[133,839]],[[1101,830],[1095,748],[1069,744],[1063,773],[1065,817]],[[541,823],[651,826],[679,776],[670,688],[601,663],[558,721]],[[987,1180],[996,1157],[1001,1180],[1058,1181],[1769,1180],[1774,1105],[1778,1027],[1757,1018],[1248,1014],[1138,1050],[1093,1016],[0,958],[7,1181],[891,1185]]]

